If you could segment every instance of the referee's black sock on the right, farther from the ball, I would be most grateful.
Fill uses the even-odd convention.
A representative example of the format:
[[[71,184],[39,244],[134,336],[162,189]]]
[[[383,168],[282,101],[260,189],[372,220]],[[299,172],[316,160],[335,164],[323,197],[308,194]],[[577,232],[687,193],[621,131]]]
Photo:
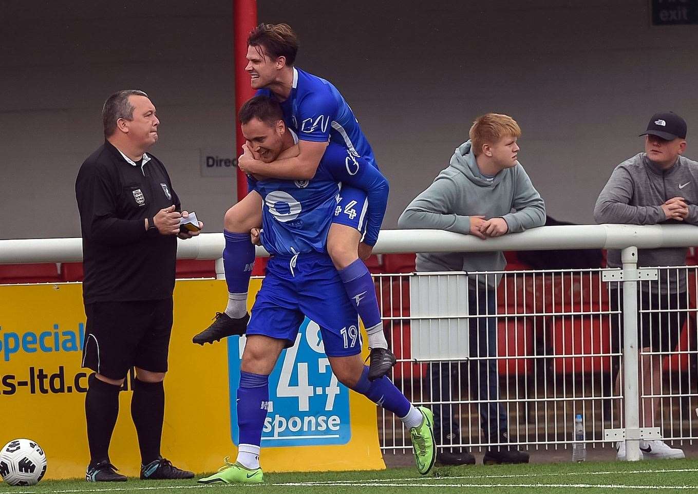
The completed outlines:
[[[165,387],[163,382],[133,380],[131,417],[138,433],[138,447],[143,465],[160,458],[160,441],[165,418]]]

